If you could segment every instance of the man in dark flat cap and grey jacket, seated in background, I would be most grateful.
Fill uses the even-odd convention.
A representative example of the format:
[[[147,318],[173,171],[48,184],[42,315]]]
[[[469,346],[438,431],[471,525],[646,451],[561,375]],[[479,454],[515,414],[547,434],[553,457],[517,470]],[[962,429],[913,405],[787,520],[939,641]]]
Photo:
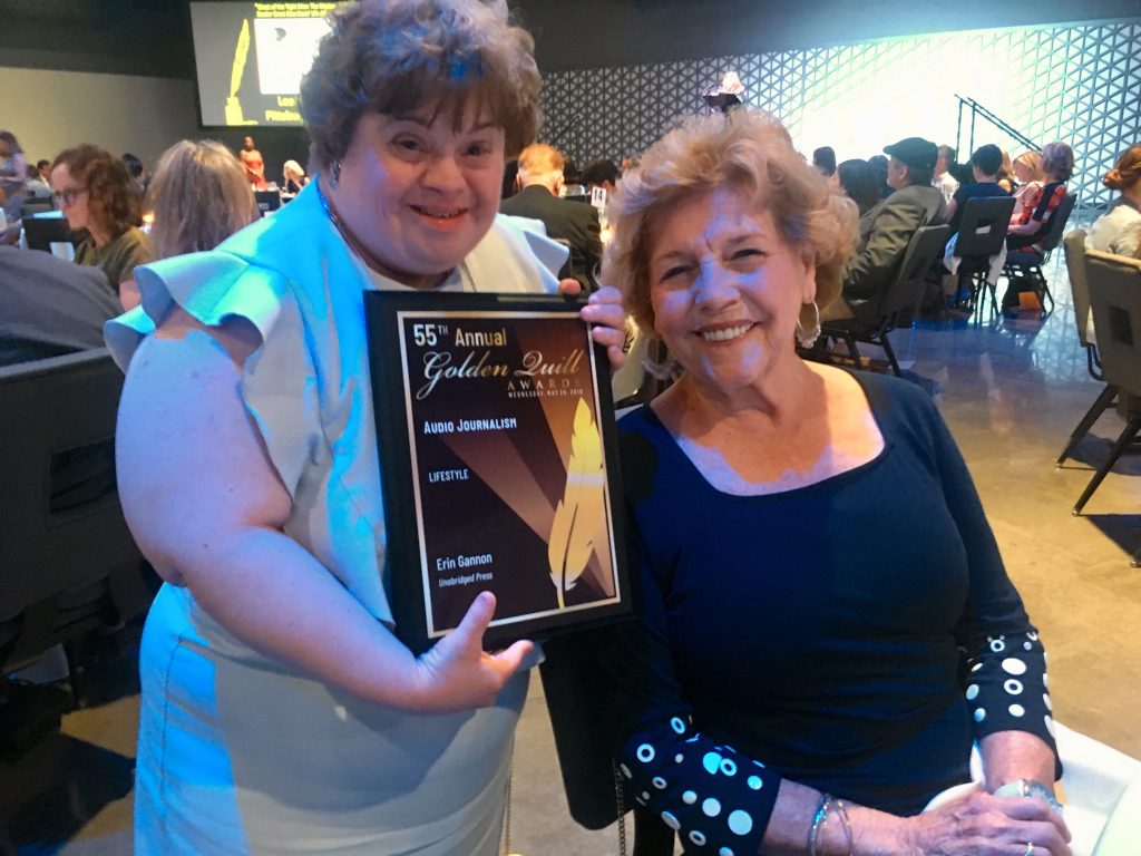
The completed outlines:
[[[931,186],[939,158],[934,143],[907,137],[883,151],[891,158],[888,184],[893,193],[860,218],[859,249],[844,268],[843,299],[820,313],[824,321],[856,317],[876,323],[880,299],[915,229],[947,221],[942,192]]]

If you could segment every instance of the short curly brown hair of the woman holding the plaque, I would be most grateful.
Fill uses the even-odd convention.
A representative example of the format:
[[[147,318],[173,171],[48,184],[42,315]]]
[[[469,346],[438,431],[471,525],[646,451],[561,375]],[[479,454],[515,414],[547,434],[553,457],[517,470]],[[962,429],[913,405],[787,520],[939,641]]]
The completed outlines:
[[[345,156],[364,113],[434,106],[459,121],[472,97],[503,128],[508,158],[535,138],[535,43],[511,25],[504,0],[358,0],[329,17],[331,30],[301,80],[301,116],[318,165]]]

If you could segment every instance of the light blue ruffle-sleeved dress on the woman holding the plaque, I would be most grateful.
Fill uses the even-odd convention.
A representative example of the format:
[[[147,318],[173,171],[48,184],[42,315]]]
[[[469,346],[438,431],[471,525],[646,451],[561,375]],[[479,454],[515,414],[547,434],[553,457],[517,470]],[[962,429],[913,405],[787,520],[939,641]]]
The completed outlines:
[[[555,291],[564,255],[499,218],[440,288]],[[171,304],[261,333],[242,395],[293,499],[284,531],[391,627],[362,293],[402,286],[349,252],[316,185],[217,250],[140,267],[136,281],[143,305],[106,330],[124,369]],[[367,704],[250,649],[170,584],[139,665],[139,856],[497,853],[526,675],[478,711]]]

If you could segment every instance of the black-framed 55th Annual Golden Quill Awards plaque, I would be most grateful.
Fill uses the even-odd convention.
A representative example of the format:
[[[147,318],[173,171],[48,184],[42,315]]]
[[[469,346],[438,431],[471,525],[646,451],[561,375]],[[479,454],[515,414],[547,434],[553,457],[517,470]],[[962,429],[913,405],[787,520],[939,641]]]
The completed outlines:
[[[364,297],[397,637],[427,649],[480,591],[488,648],[629,615],[609,363],[580,305]]]

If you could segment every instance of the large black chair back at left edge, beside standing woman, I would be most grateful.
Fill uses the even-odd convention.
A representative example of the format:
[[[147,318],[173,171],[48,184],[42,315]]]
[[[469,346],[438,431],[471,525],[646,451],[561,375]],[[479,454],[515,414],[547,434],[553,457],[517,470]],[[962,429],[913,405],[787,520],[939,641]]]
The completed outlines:
[[[0,369],[0,673],[146,607],[115,483],[122,383],[105,348]]]

